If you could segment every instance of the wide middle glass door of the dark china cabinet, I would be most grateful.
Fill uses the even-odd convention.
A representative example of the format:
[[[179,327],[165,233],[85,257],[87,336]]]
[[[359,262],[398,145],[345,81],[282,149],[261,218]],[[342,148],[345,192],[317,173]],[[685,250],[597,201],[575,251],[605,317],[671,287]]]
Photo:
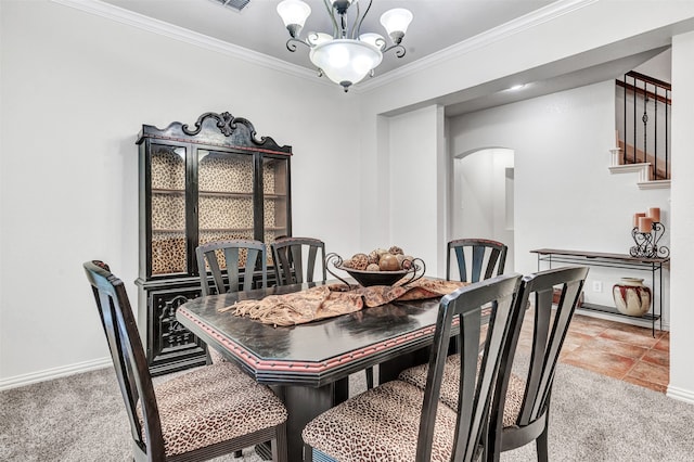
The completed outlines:
[[[197,150],[198,242],[253,239],[253,155]]]

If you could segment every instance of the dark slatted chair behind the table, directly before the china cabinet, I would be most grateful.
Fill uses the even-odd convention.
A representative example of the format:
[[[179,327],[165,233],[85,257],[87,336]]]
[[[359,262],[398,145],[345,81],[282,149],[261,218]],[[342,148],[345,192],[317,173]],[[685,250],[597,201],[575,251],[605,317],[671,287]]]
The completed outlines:
[[[215,292],[223,294],[250,291],[254,288],[253,280],[258,266],[260,267],[262,288],[268,286],[266,246],[260,241],[240,239],[208,242],[195,248],[195,256],[203,296],[211,295]],[[206,268],[209,268],[211,273],[214,291],[210,287]],[[207,363],[214,364],[221,361],[224,361],[223,356],[207,347]]]

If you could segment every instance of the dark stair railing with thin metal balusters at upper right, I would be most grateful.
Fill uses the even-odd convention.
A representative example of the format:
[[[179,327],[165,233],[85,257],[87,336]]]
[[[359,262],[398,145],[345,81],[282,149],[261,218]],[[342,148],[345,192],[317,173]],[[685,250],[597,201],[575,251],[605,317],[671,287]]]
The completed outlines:
[[[619,136],[624,139],[622,164],[651,162],[652,158],[652,178],[669,179],[672,87],[634,70],[625,74],[624,81],[616,80],[616,84],[624,88],[624,121]],[[632,144],[629,144],[630,140]]]

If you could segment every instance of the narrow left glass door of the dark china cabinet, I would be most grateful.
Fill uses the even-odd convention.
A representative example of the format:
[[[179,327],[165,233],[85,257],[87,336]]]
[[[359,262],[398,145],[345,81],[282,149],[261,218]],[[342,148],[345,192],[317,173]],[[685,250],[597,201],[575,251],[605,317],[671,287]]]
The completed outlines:
[[[152,144],[152,274],[187,271],[185,147]]]

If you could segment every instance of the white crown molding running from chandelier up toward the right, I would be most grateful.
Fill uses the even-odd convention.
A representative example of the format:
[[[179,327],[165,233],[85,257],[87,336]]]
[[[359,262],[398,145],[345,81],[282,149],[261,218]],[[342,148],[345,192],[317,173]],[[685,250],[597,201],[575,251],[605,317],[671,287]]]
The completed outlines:
[[[539,10],[530,12],[524,16],[512,20],[505,24],[497,26],[492,29],[485,30],[481,34],[477,34],[467,40],[452,44],[428,56],[416,60],[410,64],[406,64],[401,67],[393,69],[377,78],[369,81],[362,81],[359,84],[360,91],[369,91],[375,88],[393,84],[394,80],[407,77],[410,74],[414,74],[419,70],[437,65],[452,57],[461,54],[470,53],[474,50],[487,47],[499,40],[506,39],[524,30],[528,30],[540,24],[555,20],[565,14],[569,14],[581,8],[588,7],[599,0],[558,0],[548,4]]]

